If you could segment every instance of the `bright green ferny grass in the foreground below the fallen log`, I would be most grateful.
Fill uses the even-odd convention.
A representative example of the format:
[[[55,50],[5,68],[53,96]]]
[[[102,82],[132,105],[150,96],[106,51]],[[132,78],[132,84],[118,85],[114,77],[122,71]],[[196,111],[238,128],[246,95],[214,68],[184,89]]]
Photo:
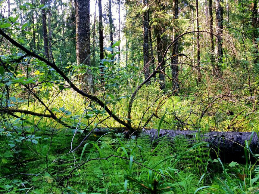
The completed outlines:
[[[127,140],[120,134],[114,136],[110,133],[101,138],[93,135],[87,141],[90,144],[85,150],[82,150],[82,146],[74,156],[71,153],[66,155],[72,139],[70,132],[55,134],[49,153],[48,137],[42,135],[37,144],[21,142],[15,151],[10,151],[10,142],[6,141],[4,135],[0,137],[1,193],[62,193],[64,190],[67,193],[150,193],[155,187],[161,189],[156,193],[220,194],[253,193],[259,186],[257,165],[229,165],[223,164],[220,159],[213,161],[206,144],[189,145],[181,137],[174,141],[164,137],[152,143],[148,137]],[[83,137],[76,134],[73,147]],[[6,152],[14,157],[5,157]],[[68,183],[70,189],[63,188],[74,166],[110,155],[132,160],[111,157],[87,162],[71,174]],[[24,174],[15,174],[17,172]],[[5,177],[10,174],[14,175]],[[243,174],[246,177],[241,180]]]

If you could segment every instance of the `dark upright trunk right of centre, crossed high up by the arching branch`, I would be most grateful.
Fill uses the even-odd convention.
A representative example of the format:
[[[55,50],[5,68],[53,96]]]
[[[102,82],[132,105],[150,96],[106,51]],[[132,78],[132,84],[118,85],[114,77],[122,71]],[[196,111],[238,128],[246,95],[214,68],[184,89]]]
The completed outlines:
[[[177,23],[179,18],[178,0],[174,0],[173,10],[174,10],[173,40],[174,40],[178,35],[177,29],[176,29],[178,27]],[[178,54],[178,39],[173,44],[173,51],[172,51],[172,58],[171,58],[172,86],[173,86],[173,90],[176,92],[179,89],[179,82],[178,82],[179,61],[178,61],[178,56],[176,57],[173,57],[173,56],[177,54]]]

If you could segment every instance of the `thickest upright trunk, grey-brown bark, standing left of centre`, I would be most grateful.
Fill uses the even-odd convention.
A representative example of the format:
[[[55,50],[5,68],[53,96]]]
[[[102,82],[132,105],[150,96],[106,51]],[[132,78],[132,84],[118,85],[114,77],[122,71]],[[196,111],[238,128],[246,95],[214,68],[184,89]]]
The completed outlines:
[[[90,0],[75,0],[76,5],[76,61],[78,66],[90,66]],[[92,74],[88,69],[80,75],[82,90],[94,93]]]

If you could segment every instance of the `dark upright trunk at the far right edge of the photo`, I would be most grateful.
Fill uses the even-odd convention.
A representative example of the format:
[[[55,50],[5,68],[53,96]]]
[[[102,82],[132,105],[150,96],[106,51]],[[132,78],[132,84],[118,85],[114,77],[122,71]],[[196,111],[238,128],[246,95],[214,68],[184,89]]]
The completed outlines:
[[[258,63],[258,46],[257,46],[257,41],[256,38],[258,38],[258,32],[257,32],[257,28],[258,28],[258,21],[257,21],[257,0],[254,0],[251,4],[251,10],[252,10],[252,40],[254,43],[254,57],[253,57],[253,62],[254,65],[256,65]]]

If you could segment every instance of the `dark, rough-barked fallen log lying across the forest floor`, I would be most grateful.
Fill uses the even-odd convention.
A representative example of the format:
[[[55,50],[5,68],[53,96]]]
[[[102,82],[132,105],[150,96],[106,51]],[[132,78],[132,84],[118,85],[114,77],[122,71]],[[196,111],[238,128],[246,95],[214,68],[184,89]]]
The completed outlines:
[[[95,133],[125,132],[124,128],[98,128]],[[142,129],[138,131],[138,137],[148,135],[151,140],[158,138],[157,129]],[[159,137],[167,136],[172,140],[175,137],[185,137],[190,144],[208,142],[207,147],[213,147],[224,162],[245,162],[245,152],[259,154],[259,141],[257,132],[218,132],[218,131],[190,131],[190,130],[165,130],[161,129]],[[247,142],[247,143],[246,143]],[[249,150],[248,150],[249,149]],[[212,158],[217,158],[215,152],[211,152]],[[255,158],[254,158],[255,160]]]

